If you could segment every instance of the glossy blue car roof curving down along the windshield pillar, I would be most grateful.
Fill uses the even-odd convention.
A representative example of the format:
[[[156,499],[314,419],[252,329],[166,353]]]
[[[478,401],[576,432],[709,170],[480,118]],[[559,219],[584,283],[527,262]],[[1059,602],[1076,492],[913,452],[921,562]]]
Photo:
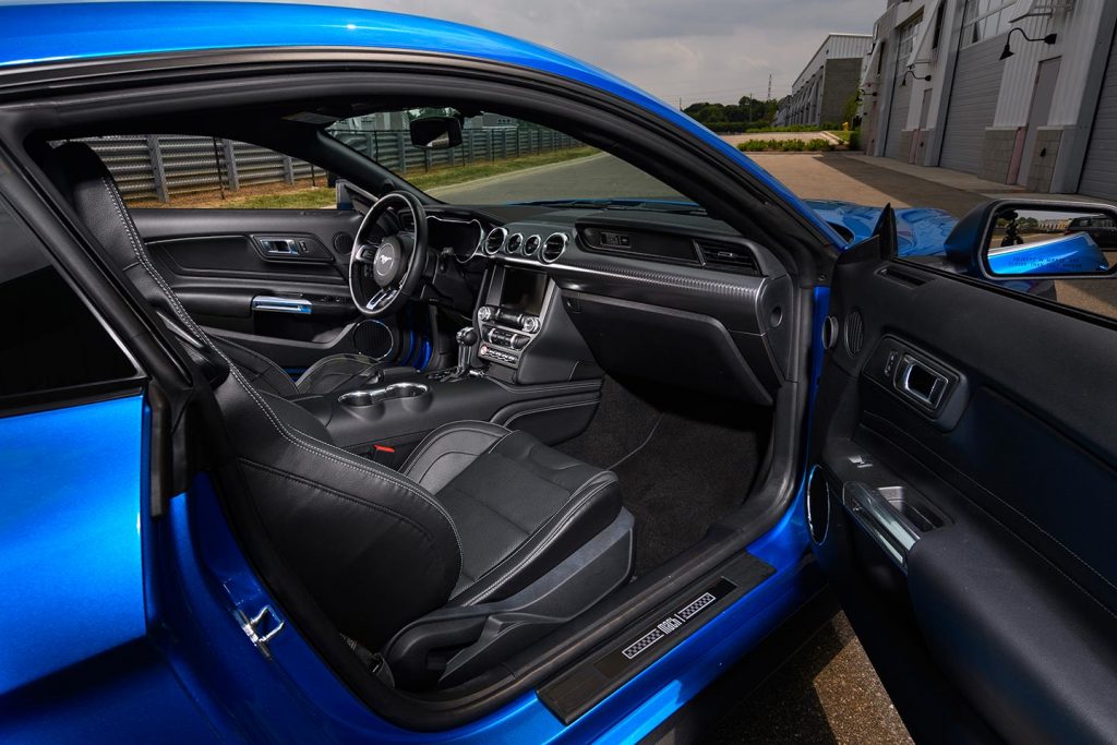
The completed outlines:
[[[65,22],[59,22],[65,18]],[[159,52],[315,47],[423,51],[507,63],[593,86],[689,131],[779,193],[836,245],[805,203],[735,147],[658,98],[579,59],[470,26],[357,8],[268,2],[77,2],[0,6],[0,74],[41,63]]]

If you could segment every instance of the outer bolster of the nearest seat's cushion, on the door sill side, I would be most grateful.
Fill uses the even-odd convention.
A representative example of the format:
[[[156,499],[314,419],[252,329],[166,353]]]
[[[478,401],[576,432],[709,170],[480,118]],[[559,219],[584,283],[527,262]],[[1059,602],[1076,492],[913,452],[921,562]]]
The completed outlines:
[[[617,475],[598,471],[514,552],[460,589],[450,605],[491,602],[519,592],[605,529],[622,509]]]

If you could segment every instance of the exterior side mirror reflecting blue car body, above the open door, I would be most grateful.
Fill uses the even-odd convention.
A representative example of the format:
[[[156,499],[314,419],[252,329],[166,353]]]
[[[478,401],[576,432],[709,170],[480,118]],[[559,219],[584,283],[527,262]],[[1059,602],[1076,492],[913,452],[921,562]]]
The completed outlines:
[[[946,240],[946,252],[976,276],[1109,276],[1117,273],[1117,209],[1077,202],[987,202],[958,222]]]

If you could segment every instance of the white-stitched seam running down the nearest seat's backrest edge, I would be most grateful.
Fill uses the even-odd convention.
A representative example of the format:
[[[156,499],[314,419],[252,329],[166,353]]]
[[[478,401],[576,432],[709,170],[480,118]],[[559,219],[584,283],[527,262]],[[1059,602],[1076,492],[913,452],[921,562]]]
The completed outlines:
[[[264,417],[269,422],[271,422],[271,426],[276,429],[277,432],[279,432],[280,437],[283,437],[285,440],[287,440],[288,442],[290,442],[292,445],[294,445],[295,447],[297,447],[297,448],[299,448],[302,450],[305,450],[307,452],[312,452],[312,453],[318,455],[318,456],[321,456],[323,458],[326,458],[327,460],[332,460],[332,461],[334,461],[336,464],[340,464],[340,465],[342,465],[342,466],[344,466],[346,468],[350,468],[352,470],[355,470],[355,471],[357,471],[360,474],[367,474],[370,476],[378,477],[378,478],[380,478],[380,479],[382,479],[384,481],[388,481],[389,484],[394,484],[395,486],[398,486],[398,487],[400,487],[400,488],[402,488],[402,489],[404,489],[407,491],[410,491],[411,494],[416,495],[420,499],[426,500],[426,502],[435,505],[435,507],[439,512],[442,513],[442,516],[447,519],[447,522],[449,522],[450,529],[454,532],[454,539],[458,544],[458,554],[461,555],[461,537],[458,535],[458,526],[455,525],[454,519],[450,517],[450,514],[446,510],[446,508],[442,507],[442,505],[439,504],[432,496],[424,495],[421,491],[419,491],[417,488],[414,488],[413,486],[410,486],[410,485],[408,485],[408,484],[405,484],[405,483],[403,483],[401,480],[397,480],[397,479],[394,479],[392,477],[389,477],[386,474],[380,472],[378,470],[373,470],[373,469],[367,468],[365,466],[357,466],[356,464],[347,462],[347,461],[342,460],[341,458],[338,458],[337,456],[335,456],[335,455],[333,455],[333,453],[331,453],[328,451],[321,450],[319,448],[316,448],[316,447],[314,447],[312,445],[307,445],[305,442],[299,442],[290,433],[292,431],[295,431],[295,432],[298,432],[298,434],[300,434],[300,436],[305,437],[306,439],[311,440],[312,442],[318,442],[318,443],[324,445],[326,447],[334,447],[334,446],[330,446],[326,442],[323,442],[322,440],[318,440],[317,438],[311,437],[309,434],[307,434],[306,432],[303,432],[302,430],[298,430],[298,429],[295,429],[295,428],[292,428],[290,430],[288,430],[286,428],[286,426],[283,424],[283,422],[276,416],[276,413],[271,410],[271,408],[259,397],[259,394],[256,391],[256,389],[252,388],[252,385],[248,382],[247,379],[245,379],[244,373],[240,372],[240,370],[237,367],[237,365],[233,364],[232,361],[229,360],[229,357],[227,357],[221,350],[217,348],[217,345],[211,340],[209,340],[209,336],[206,334],[206,332],[203,332],[201,329],[201,327],[198,326],[197,323],[194,323],[194,319],[191,318],[190,314],[187,313],[185,308],[182,307],[182,304],[179,302],[179,298],[174,294],[174,290],[172,290],[170,288],[170,286],[166,284],[166,280],[164,280],[163,277],[162,277],[162,275],[159,274],[159,271],[151,264],[150,259],[147,259],[146,255],[144,254],[143,249],[141,248],[142,240],[140,239],[139,233],[135,232],[135,226],[130,225],[128,220],[125,218],[125,212],[124,212],[125,208],[124,208],[123,200],[121,199],[120,194],[114,190],[114,188],[113,188],[113,185],[112,185],[112,183],[109,182],[108,179],[109,179],[109,176],[102,176],[101,180],[102,180],[102,183],[105,187],[105,191],[108,192],[108,197],[109,197],[109,200],[113,202],[113,207],[116,209],[116,217],[121,221],[121,225],[124,227],[124,232],[128,237],[128,241],[132,243],[132,250],[135,254],[136,260],[140,261],[140,265],[144,268],[144,270],[147,271],[147,275],[162,289],[163,295],[166,297],[168,302],[171,304],[171,308],[174,311],[174,314],[176,316],[179,316],[179,319],[187,326],[187,328],[189,328],[190,331],[192,331],[194,334],[198,335],[198,341],[200,341],[202,343],[204,343],[206,341],[209,341],[210,348],[213,350],[213,352],[216,352],[218,355],[220,355],[221,359],[226,361],[226,363],[228,363],[228,365],[229,365],[229,372],[232,375],[233,380],[236,380],[237,383],[240,384],[241,389],[256,403],[256,405],[259,407],[260,411],[264,413]]]

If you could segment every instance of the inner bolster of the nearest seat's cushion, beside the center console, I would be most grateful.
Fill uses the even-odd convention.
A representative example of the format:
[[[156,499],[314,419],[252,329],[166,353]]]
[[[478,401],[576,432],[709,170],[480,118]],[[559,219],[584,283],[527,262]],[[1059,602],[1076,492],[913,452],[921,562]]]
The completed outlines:
[[[512,431],[483,421],[459,421],[439,427],[403,461],[400,471],[437,494],[458,474],[503,441]]]

